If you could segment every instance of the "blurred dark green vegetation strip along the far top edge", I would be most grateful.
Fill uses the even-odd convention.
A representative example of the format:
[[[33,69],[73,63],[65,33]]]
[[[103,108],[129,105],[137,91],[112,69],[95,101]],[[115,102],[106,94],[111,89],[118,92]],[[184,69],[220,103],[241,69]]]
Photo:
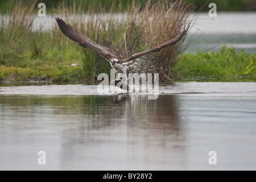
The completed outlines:
[[[157,0],[155,0],[157,1]],[[256,11],[256,1],[255,0],[210,0],[210,1],[203,1],[203,0],[186,0],[188,2],[194,3],[196,7],[196,11],[208,11],[209,7],[207,6],[209,3],[216,3],[217,10],[218,11]],[[15,6],[16,0],[1,0],[0,1],[0,13],[10,13],[11,10]],[[24,0],[23,5],[26,6],[29,0]],[[26,3],[27,2],[27,3]],[[53,9],[57,8],[57,5],[60,2],[63,2],[61,0],[39,0],[38,3],[43,2],[46,4],[47,7],[47,13],[53,13]],[[99,5],[108,7],[108,9],[111,9],[113,3],[112,0],[65,0],[65,3],[67,5],[72,5],[74,3],[79,4],[83,10],[88,10],[90,7],[92,7],[94,10],[100,10],[101,7]],[[121,8],[118,9],[115,7],[115,10],[124,11],[127,9],[127,6],[131,4],[131,0],[119,0],[120,3],[115,3],[114,6],[120,6]],[[142,5],[145,3],[145,0],[137,0],[137,2],[141,3]],[[37,3],[37,4],[38,4]],[[110,6],[111,5],[111,6]],[[78,8],[78,7],[77,7]],[[36,11],[37,12],[37,11]],[[35,13],[36,13],[35,12]]]

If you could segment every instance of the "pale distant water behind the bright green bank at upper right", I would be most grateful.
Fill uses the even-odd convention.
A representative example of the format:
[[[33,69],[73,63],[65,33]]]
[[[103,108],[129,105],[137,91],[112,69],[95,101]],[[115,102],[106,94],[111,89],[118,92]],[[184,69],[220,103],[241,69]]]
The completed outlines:
[[[189,44],[185,51],[217,51],[226,44],[227,47],[235,47],[237,51],[245,49],[247,53],[255,53],[255,19],[255,12],[217,12],[216,17],[201,13],[195,18],[195,23],[185,40]]]

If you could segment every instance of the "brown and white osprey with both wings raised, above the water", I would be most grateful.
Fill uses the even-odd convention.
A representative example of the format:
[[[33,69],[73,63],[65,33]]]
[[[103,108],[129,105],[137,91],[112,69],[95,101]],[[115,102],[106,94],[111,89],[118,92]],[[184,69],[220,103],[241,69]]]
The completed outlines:
[[[177,35],[176,38],[171,39],[166,43],[160,44],[160,46],[158,47],[147,49],[146,51],[142,51],[139,53],[135,53],[134,55],[126,59],[121,59],[121,56],[118,55],[117,52],[114,52],[110,48],[101,46],[100,44],[97,44],[96,42],[89,39],[87,36],[85,36],[81,32],[77,31],[76,28],[73,28],[70,24],[65,23],[63,19],[60,19],[59,17],[57,17],[56,20],[57,20],[57,23],[59,24],[60,30],[63,32],[65,36],[79,43],[79,46],[91,49],[92,51],[104,57],[106,60],[109,61],[111,67],[114,69],[115,73],[117,74],[118,73],[126,74],[126,70],[134,66],[134,63],[138,57],[147,55],[152,52],[158,52],[163,48],[176,44],[183,38],[183,36],[187,33],[189,29],[189,26],[187,28],[184,28],[183,32]]]

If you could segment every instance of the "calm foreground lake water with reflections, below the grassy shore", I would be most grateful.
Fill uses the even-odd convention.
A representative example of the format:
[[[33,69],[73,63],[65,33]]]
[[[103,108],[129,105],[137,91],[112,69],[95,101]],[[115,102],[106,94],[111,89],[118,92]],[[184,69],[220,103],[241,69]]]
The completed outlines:
[[[2,85],[0,169],[256,169],[255,83],[159,89],[148,100],[93,85]]]

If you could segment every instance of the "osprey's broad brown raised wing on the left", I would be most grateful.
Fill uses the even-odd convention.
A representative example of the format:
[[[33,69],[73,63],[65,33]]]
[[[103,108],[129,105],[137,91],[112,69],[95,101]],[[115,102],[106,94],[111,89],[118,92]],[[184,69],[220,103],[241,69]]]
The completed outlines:
[[[73,41],[79,43],[80,46],[91,49],[108,61],[111,61],[112,59],[121,60],[121,57],[118,55],[118,53],[112,51],[112,49],[93,42],[93,40],[89,39],[87,36],[77,31],[70,24],[65,23],[63,19],[60,19],[58,17],[56,18],[56,20],[63,34],[69,39],[72,39]]]

